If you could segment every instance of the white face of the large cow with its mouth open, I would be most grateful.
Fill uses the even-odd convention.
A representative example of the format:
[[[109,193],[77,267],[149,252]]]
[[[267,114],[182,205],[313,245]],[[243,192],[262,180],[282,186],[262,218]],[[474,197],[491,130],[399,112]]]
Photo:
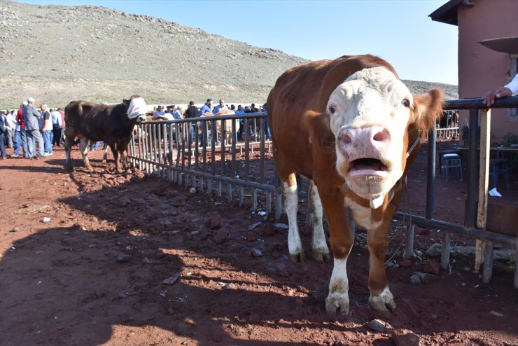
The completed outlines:
[[[371,207],[381,205],[405,169],[413,102],[408,88],[384,67],[352,74],[329,97],[336,169]]]

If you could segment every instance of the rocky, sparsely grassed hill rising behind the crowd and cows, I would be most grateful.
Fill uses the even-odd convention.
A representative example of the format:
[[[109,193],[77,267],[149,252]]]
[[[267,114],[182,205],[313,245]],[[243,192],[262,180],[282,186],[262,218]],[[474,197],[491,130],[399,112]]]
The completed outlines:
[[[150,104],[261,104],[283,71],[307,60],[147,15],[0,0],[0,62],[0,107],[14,108],[29,96],[64,106],[133,94]],[[458,97],[456,85],[405,82]]]

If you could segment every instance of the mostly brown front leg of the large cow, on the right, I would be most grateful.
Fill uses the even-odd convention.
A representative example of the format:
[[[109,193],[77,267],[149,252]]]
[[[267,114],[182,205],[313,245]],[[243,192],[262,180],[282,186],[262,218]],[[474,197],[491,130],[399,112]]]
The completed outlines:
[[[388,223],[387,226],[382,225],[380,228],[367,230],[367,246],[370,253],[369,303],[372,309],[384,313],[395,309],[394,296],[388,289],[385,272],[387,232]]]

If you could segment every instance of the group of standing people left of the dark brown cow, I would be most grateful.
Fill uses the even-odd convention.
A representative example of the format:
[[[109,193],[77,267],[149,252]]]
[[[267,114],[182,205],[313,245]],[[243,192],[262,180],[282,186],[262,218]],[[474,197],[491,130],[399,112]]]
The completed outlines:
[[[29,97],[18,110],[3,110],[0,118],[1,158],[8,158],[6,148],[13,148],[11,158],[38,159],[52,155],[52,146],[62,145],[64,111],[48,108]]]

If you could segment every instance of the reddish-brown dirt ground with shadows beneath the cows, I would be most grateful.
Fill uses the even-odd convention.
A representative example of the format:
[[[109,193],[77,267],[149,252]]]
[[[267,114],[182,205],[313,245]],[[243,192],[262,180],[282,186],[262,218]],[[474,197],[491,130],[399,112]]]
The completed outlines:
[[[398,251],[387,268],[398,307],[381,316],[368,307],[358,231],[348,260],[351,312],[331,319],[323,299],[332,264],[290,263],[286,230],[271,217],[138,169],[116,175],[101,151],[90,157],[94,172],[66,172],[60,148],[0,162],[0,345],[518,345],[510,259],[496,261],[482,284],[472,256],[454,253],[450,270],[412,286],[414,272],[439,261],[424,253],[440,233],[416,228],[416,256],[403,261]],[[421,153],[404,212],[423,214],[425,164]],[[438,178],[436,187],[437,219],[461,223],[465,181]],[[403,236],[394,222],[387,258]],[[373,319],[385,327],[374,331]]]

